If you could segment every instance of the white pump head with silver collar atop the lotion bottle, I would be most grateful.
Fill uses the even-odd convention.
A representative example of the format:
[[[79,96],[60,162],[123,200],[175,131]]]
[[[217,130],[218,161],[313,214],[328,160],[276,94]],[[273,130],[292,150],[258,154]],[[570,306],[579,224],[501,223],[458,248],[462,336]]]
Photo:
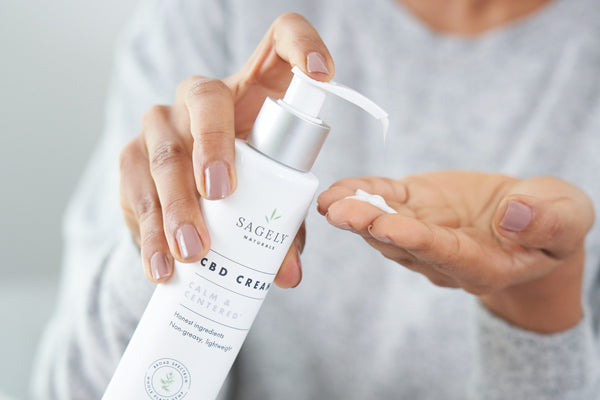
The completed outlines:
[[[377,118],[385,138],[388,115],[377,104],[347,86],[309,78],[298,67],[292,72],[294,77],[284,98],[265,100],[248,137],[250,146],[292,168],[309,171],[330,129],[319,119],[328,93]]]

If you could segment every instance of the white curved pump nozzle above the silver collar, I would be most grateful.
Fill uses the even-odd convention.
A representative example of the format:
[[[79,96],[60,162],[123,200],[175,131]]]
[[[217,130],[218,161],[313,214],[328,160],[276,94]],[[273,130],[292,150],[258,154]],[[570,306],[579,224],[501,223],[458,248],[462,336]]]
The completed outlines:
[[[292,68],[292,72],[294,78],[283,98],[283,101],[289,106],[307,116],[318,118],[327,93],[331,93],[357,105],[378,119],[385,137],[389,126],[388,114],[373,101],[356,90],[339,83],[316,81],[298,67]]]

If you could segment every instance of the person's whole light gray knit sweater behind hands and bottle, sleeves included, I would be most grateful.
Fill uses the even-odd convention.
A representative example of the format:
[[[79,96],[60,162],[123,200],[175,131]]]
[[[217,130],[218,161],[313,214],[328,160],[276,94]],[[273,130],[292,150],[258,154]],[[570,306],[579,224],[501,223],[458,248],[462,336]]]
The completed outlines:
[[[473,39],[436,34],[393,0],[142,1],[117,52],[102,139],[65,219],[61,297],[36,398],[100,398],[152,293],[118,202],[117,155],[141,114],[171,103],[192,74],[239,69],[287,11],[320,31],[337,81],[390,113],[384,145],[368,117],[329,103],[322,116],[333,130],[314,168],[323,187],[440,169],[543,174],[583,188],[600,210],[596,0],[558,0]],[[222,398],[600,399],[598,224],[587,242],[585,317],[555,335],[510,326],[314,210],[307,225],[304,280],[271,289]]]

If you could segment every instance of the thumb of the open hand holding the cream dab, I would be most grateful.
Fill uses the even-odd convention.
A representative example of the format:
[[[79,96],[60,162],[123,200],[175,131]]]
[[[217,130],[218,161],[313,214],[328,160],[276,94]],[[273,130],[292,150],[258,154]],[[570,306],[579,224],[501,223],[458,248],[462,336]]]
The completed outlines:
[[[594,208],[579,188],[557,178],[520,181],[495,216],[498,234],[522,246],[563,259],[583,245]]]

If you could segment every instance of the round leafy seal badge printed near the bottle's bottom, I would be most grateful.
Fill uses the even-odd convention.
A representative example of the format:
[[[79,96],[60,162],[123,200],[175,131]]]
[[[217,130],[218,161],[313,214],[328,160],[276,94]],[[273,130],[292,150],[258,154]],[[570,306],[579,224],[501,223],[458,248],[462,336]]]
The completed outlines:
[[[179,361],[158,359],[146,371],[146,393],[153,400],[183,399],[190,390],[190,378],[190,372]]]

